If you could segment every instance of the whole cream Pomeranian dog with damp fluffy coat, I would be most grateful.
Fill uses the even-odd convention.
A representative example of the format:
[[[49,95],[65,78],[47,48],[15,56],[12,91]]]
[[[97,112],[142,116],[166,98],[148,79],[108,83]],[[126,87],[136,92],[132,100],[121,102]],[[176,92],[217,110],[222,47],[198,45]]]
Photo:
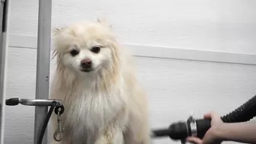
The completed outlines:
[[[62,101],[61,144],[149,144],[146,93],[133,57],[105,21],[57,29],[51,98]],[[53,130],[57,129],[53,115]]]

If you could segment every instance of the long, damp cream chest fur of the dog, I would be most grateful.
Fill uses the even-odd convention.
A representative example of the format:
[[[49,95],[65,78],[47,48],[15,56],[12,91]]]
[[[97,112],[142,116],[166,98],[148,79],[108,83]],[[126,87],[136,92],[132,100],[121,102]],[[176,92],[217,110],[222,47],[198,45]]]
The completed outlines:
[[[79,88],[78,88],[79,89]],[[66,111],[62,116],[65,133],[72,142],[93,142],[99,133],[104,133],[107,123],[126,107],[122,88],[109,91],[94,91],[94,88],[80,88],[73,92],[62,91],[62,102]],[[72,94],[72,95],[69,95]],[[62,95],[63,96],[63,95]],[[122,123],[122,125],[125,123]]]

